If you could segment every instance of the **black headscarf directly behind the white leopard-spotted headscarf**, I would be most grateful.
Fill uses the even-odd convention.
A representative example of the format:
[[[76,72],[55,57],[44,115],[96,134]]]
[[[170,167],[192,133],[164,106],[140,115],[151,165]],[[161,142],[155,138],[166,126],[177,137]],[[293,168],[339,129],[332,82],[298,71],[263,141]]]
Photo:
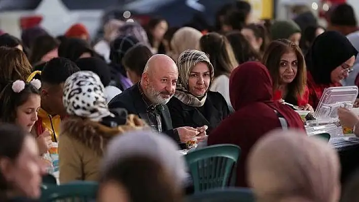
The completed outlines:
[[[100,77],[103,86],[108,86],[111,82],[110,67],[105,61],[99,58],[80,58],[76,61],[81,71],[92,71]]]

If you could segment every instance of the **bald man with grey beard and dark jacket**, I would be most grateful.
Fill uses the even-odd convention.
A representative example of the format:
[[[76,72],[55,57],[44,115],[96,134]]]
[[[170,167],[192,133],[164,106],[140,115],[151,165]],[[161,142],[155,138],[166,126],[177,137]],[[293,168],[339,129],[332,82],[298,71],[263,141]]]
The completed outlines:
[[[109,107],[125,108],[137,114],[154,131],[165,133],[177,143],[186,143],[200,133],[192,127],[173,129],[167,102],[174,95],[178,69],[166,55],[153,55],[143,70],[139,83],[113,98]]]

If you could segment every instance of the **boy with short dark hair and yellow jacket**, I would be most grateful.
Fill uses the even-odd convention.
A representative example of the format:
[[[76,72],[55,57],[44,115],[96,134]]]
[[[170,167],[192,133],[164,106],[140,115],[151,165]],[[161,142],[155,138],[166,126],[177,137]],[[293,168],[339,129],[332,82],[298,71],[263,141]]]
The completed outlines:
[[[80,71],[80,68],[66,58],[54,58],[45,64],[41,73],[41,108],[35,123],[38,135],[47,130],[52,141],[57,142],[61,118],[66,116],[62,104],[63,84],[67,77],[77,71]]]

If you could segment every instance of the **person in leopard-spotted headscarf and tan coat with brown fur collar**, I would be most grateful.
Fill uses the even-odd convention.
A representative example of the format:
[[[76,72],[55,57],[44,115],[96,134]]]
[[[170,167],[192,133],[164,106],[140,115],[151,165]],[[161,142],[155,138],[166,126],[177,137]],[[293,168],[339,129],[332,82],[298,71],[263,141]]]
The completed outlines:
[[[107,143],[126,131],[147,127],[124,109],[110,111],[99,76],[79,71],[66,79],[63,104],[69,117],[59,135],[60,183],[97,181],[99,161]]]

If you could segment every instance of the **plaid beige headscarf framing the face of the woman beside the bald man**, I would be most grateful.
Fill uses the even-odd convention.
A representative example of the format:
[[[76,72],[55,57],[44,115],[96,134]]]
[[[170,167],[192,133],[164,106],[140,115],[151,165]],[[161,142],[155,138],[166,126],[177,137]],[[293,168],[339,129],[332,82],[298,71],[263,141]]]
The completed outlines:
[[[196,66],[200,62],[205,62],[210,71],[210,83],[212,83],[214,69],[212,64],[209,61],[208,56],[203,53],[202,51],[197,50],[187,50],[183,52],[177,60],[177,67],[178,67],[178,82],[176,92],[174,93],[174,97],[181,100],[183,103],[200,107],[203,106],[204,102],[207,98],[207,93],[204,97],[199,100],[196,96],[192,95],[189,91],[188,86],[188,79],[190,76],[190,72],[194,66]],[[208,89],[210,87],[210,83]]]

